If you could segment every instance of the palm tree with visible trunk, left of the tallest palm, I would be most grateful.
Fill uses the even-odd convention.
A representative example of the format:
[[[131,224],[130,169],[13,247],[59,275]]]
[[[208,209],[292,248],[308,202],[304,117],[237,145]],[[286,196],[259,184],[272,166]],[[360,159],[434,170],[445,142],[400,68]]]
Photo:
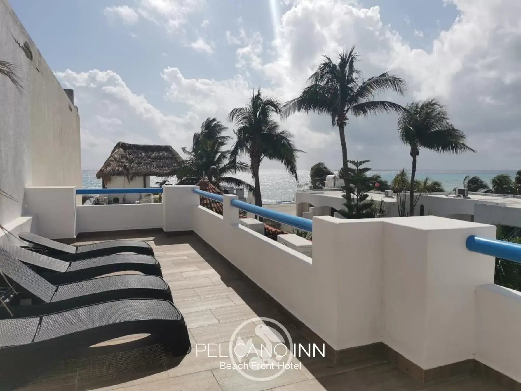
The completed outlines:
[[[249,156],[255,180],[255,205],[258,206],[262,206],[259,167],[264,158],[281,162],[295,180],[299,180],[296,156],[303,151],[296,149],[291,133],[280,130],[280,125],[272,118],[280,114],[280,102],[273,97],[263,97],[259,88],[246,106],[234,108],[228,115],[228,120],[238,127],[233,131],[237,141],[232,146],[230,161],[236,162],[241,154]]]

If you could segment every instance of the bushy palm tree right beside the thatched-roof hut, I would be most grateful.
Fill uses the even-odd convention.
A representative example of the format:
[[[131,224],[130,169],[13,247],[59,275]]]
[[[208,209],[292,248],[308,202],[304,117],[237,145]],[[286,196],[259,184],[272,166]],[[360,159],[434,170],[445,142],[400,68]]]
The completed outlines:
[[[230,151],[223,150],[231,139],[224,136],[227,130],[216,118],[207,118],[201,125],[201,131],[192,138],[192,148],[182,148],[187,154],[176,171],[178,185],[196,185],[206,177],[214,186],[242,186],[253,189],[249,183],[229,176],[238,171],[247,172],[250,167],[243,162],[231,162]]]

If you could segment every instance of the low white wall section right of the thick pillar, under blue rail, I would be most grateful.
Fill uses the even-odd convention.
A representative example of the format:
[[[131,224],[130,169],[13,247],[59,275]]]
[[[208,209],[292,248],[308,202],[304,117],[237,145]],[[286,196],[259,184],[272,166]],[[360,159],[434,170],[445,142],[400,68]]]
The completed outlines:
[[[521,292],[499,285],[476,289],[476,360],[521,382]]]

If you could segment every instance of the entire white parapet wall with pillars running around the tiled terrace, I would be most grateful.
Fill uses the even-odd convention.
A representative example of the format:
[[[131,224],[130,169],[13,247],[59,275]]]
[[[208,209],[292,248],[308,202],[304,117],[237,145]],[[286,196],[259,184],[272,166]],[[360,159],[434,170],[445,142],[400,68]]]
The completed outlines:
[[[423,369],[476,358],[521,380],[521,296],[493,285],[492,256],[465,247],[469,235],[494,238],[494,226],[314,216],[311,259],[240,225],[235,196],[220,216],[194,188],[165,187],[161,204],[95,206],[77,206],[75,188],[28,188],[26,225],[53,239],[193,230],[334,349],[383,342]]]

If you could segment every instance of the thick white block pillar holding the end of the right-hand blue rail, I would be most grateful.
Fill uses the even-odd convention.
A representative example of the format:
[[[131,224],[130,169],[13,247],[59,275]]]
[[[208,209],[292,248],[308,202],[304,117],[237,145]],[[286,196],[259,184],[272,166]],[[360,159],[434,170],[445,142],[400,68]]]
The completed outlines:
[[[474,291],[493,283],[495,259],[468,251],[469,235],[495,227],[436,216],[383,227],[383,342],[421,368],[473,358]]]

